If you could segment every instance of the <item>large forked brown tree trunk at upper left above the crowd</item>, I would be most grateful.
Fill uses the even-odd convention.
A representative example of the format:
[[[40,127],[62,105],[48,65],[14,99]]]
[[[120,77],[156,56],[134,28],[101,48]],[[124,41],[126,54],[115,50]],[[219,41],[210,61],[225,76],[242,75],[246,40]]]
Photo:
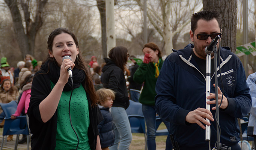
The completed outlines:
[[[43,24],[43,9],[47,1],[48,0],[39,0],[35,6],[36,8],[29,8],[27,1],[24,2],[23,0],[20,0],[23,10],[23,12],[20,12],[18,9],[17,0],[5,0],[5,3],[8,5],[12,15],[14,31],[21,51],[22,59],[26,54],[34,54],[35,37],[36,33]],[[35,18],[33,18],[33,21],[30,19],[30,10],[32,9],[35,10]],[[21,13],[24,14],[26,27],[23,26]]]

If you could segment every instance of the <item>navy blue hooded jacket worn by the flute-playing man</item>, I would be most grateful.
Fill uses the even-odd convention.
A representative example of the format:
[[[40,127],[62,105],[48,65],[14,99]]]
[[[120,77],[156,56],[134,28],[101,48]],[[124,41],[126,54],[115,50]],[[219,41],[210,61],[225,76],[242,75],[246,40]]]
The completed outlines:
[[[185,121],[190,111],[205,108],[206,105],[206,78],[191,55],[193,47],[193,44],[189,44],[184,49],[174,50],[164,61],[155,87],[155,109],[161,118],[170,122],[170,132],[181,150],[206,150],[208,142],[205,141],[205,130],[198,124]],[[220,64],[217,66],[218,86],[229,102],[226,109],[219,110],[220,141],[222,144],[233,145],[240,140],[237,118],[249,113],[251,96],[242,63],[233,52],[220,48]],[[224,89],[219,75],[220,68]],[[211,93],[215,93],[214,83],[213,74]],[[211,113],[215,115],[215,111],[211,110]],[[216,121],[211,121],[211,145],[216,141]]]

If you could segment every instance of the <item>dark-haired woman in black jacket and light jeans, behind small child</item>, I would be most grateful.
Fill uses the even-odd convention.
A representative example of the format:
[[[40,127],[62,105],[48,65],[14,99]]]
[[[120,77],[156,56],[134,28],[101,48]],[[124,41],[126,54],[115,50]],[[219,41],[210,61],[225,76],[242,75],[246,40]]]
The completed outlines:
[[[111,108],[115,141],[110,150],[128,150],[132,140],[131,127],[125,109],[130,105],[126,80],[125,64],[129,54],[127,48],[116,46],[104,58],[106,65],[102,68],[101,82],[106,89],[115,92],[115,99]]]

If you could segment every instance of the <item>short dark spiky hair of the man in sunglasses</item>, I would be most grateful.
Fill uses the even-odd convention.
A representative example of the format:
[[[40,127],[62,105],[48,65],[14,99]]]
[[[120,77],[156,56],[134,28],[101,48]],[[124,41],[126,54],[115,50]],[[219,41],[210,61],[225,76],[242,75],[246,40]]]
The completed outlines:
[[[196,12],[191,17],[191,30],[194,32],[197,28],[197,21],[203,19],[205,21],[210,21],[212,19],[216,19],[220,26],[220,15],[215,10],[203,10],[200,12]]]

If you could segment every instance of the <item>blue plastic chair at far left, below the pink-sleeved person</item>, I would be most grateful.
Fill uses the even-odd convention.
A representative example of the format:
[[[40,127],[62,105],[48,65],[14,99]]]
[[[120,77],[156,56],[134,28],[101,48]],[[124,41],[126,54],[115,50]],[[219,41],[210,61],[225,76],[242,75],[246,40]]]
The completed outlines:
[[[5,113],[5,124],[3,127],[3,139],[1,144],[1,150],[3,149],[4,137],[6,135],[17,135],[15,141],[14,150],[17,150],[19,135],[24,134],[27,135],[27,150],[29,150],[29,128],[27,125],[26,116],[19,116],[16,119],[12,120],[11,115],[15,113],[17,110],[17,102],[11,101],[7,104],[0,103],[3,112]]]

